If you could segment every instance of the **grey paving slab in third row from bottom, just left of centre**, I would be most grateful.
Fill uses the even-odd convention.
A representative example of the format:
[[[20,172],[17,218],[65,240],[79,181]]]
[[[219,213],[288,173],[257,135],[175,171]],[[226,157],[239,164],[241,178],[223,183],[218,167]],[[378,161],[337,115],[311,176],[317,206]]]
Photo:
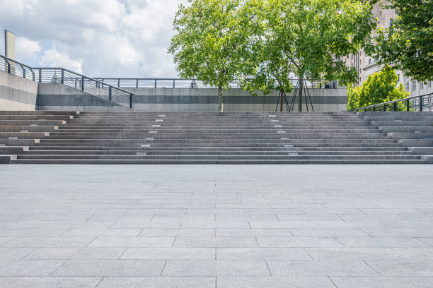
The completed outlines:
[[[120,259],[214,260],[215,248],[127,248]]]

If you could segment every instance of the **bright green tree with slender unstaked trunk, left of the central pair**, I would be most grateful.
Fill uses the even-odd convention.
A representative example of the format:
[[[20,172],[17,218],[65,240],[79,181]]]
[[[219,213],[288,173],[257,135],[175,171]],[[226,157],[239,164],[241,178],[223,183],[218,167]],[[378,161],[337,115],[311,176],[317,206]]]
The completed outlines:
[[[224,90],[250,73],[255,65],[250,37],[262,23],[256,15],[260,0],[189,0],[180,5],[168,52],[173,54],[182,78],[197,78],[219,89],[219,111],[224,110]]]

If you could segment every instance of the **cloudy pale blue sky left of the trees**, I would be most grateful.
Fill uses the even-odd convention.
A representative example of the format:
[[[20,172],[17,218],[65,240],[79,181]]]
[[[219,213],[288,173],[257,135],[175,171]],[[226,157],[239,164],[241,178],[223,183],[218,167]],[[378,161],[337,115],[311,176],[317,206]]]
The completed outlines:
[[[89,77],[177,78],[167,53],[178,4],[187,0],[0,0],[16,60]]]

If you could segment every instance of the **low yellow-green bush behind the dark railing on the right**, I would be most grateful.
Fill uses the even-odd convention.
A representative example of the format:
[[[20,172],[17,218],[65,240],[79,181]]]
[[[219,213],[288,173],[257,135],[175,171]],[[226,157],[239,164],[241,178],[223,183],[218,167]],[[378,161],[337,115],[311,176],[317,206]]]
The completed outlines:
[[[386,66],[379,73],[370,75],[362,86],[347,89],[347,110],[381,104],[409,97],[410,93],[398,85],[398,76],[393,68]],[[405,109],[399,104],[399,110]]]

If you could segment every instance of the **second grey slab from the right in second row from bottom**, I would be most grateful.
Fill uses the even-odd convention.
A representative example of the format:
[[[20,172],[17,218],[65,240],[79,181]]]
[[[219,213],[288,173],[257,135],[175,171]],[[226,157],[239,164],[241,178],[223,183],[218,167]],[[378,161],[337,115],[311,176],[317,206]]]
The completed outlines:
[[[358,260],[268,260],[267,265],[275,276],[379,276]]]

